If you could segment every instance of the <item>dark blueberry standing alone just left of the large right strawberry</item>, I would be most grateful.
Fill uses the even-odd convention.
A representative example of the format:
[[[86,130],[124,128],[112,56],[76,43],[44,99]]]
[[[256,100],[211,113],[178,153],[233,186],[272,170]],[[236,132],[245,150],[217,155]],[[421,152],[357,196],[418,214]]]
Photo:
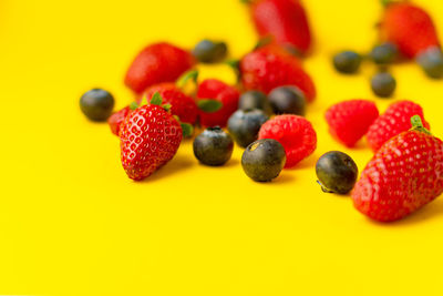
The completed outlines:
[[[330,151],[317,161],[316,173],[323,192],[347,194],[356,185],[359,170],[348,154]]]

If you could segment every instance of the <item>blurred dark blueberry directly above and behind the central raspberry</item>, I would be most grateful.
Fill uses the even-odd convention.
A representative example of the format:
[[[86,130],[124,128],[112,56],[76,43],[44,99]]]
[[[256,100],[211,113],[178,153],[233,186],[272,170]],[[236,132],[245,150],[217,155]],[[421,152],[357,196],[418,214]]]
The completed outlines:
[[[269,102],[276,114],[296,114],[305,116],[305,93],[296,86],[280,86],[269,93]]]

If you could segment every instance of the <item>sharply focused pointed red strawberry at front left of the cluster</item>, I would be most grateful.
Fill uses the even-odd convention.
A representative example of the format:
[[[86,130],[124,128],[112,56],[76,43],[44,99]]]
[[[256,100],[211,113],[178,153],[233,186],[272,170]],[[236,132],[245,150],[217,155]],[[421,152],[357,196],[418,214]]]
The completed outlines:
[[[142,105],[123,123],[120,133],[122,164],[140,181],[171,161],[182,142],[182,126],[158,105]]]

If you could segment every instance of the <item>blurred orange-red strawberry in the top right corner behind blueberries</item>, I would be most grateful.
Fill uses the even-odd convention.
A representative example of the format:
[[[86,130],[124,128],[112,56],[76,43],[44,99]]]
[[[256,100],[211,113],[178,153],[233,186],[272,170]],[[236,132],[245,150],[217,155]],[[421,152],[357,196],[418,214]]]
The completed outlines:
[[[408,58],[415,58],[429,48],[440,47],[431,17],[410,2],[389,3],[380,29],[381,38],[395,43]]]

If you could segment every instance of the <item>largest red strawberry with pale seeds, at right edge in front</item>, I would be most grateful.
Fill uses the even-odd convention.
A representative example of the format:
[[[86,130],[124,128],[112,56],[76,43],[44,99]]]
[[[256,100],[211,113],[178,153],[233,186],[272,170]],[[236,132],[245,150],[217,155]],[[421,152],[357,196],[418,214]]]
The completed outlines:
[[[353,204],[369,217],[400,220],[443,192],[443,142],[414,116],[415,127],[391,140],[368,163],[353,192]]]

